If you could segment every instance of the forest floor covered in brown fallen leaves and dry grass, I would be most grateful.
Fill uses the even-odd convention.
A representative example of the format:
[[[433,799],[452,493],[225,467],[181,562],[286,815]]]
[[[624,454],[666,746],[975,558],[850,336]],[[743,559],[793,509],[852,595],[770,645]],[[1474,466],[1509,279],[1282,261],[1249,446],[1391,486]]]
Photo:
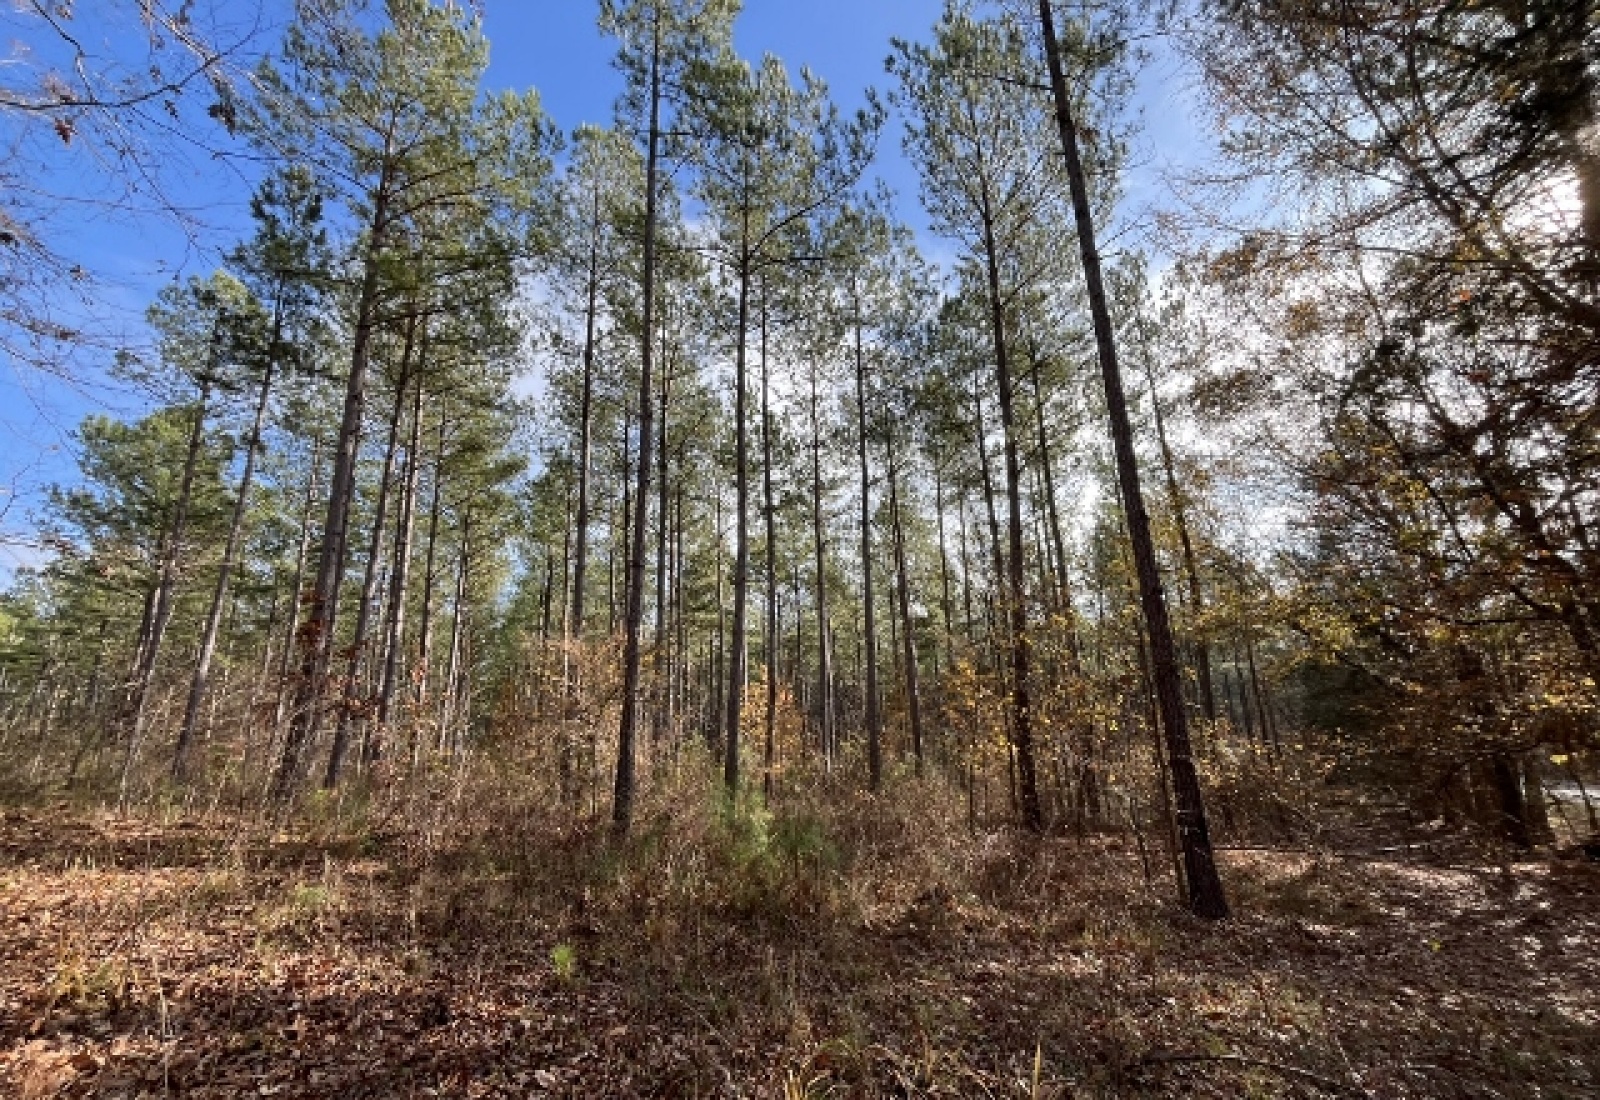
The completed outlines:
[[[691,817],[6,811],[0,1095],[1600,1095],[1594,863]]]

